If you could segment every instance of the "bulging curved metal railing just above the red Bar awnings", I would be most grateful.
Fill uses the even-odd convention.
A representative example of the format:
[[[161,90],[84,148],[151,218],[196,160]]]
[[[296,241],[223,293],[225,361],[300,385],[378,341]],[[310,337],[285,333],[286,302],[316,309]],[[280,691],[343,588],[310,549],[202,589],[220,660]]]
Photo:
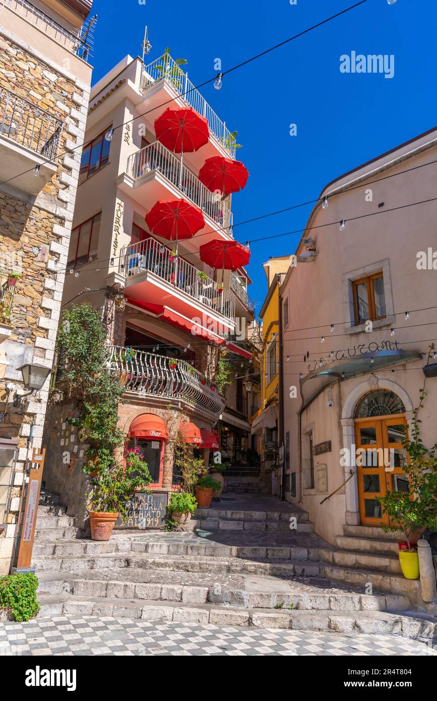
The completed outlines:
[[[122,346],[111,346],[107,367],[125,385],[126,391],[141,397],[162,397],[177,400],[219,418],[224,404],[217,390],[211,390],[207,379],[186,360],[171,359]],[[204,383],[204,384],[202,384]]]

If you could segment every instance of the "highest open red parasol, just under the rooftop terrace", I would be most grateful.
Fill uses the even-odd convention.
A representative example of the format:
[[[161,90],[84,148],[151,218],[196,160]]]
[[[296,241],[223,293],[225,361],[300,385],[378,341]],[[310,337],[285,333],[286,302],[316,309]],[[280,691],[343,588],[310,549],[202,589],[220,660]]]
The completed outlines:
[[[155,119],[155,134],[158,141],[170,151],[178,154],[197,151],[208,143],[208,120],[193,107],[167,107]]]

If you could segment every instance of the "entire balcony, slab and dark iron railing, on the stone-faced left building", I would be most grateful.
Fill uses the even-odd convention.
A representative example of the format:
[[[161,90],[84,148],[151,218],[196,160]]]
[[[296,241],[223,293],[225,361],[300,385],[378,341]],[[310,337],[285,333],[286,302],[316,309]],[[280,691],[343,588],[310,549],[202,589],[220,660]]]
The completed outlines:
[[[59,119],[0,88],[1,182],[37,195],[57,171],[61,135]]]

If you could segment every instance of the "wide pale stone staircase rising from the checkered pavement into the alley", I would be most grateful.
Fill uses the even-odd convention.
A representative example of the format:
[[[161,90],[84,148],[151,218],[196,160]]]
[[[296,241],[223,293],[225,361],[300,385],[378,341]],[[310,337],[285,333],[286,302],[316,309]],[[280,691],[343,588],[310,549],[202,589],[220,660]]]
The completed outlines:
[[[229,493],[197,509],[190,531],[116,531],[107,542],[74,538],[59,499],[44,493],[41,501],[33,557],[41,616],[436,636],[437,619],[409,611],[400,589],[370,595],[346,578],[333,583],[331,570],[359,572],[328,559],[350,543],[331,548],[307,513],[271,496]]]

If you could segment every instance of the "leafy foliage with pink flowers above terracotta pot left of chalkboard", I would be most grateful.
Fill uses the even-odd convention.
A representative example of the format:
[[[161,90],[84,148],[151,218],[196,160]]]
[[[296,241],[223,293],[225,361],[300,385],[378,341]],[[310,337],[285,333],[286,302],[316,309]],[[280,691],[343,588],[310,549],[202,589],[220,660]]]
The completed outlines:
[[[150,489],[146,489],[151,482],[153,480],[140,449],[127,449],[123,461],[99,468],[98,474],[91,478],[88,511],[118,513],[125,521],[132,495],[137,490],[151,494]]]

